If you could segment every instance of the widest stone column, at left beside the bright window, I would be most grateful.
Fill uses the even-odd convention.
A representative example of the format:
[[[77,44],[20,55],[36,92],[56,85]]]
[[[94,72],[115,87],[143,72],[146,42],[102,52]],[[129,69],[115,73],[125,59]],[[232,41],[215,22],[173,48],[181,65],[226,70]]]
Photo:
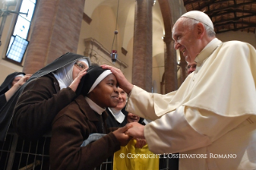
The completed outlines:
[[[59,56],[77,51],[85,0],[42,0],[35,9],[34,26],[23,71],[33,74]]]

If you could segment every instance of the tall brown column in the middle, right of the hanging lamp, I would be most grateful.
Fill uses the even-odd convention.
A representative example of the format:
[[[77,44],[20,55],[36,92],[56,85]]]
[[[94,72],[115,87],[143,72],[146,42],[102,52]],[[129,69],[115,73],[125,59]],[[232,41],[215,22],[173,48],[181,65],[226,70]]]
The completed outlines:
[[[152,91],[152,0],[136,0],[132,83]]]

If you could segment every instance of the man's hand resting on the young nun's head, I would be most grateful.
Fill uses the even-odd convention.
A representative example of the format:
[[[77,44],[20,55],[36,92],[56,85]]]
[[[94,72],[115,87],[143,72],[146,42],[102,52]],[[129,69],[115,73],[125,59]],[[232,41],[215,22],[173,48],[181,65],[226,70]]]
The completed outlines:
[[[101,65],[103,69],[109,69],[112,71],[113,75],[116,76],[117,82],[119,83],[119,87],[122,88],[127,94],[130,94],[132,91],[132,83],[130,83],[120,71],[120,69],[108,65]]]

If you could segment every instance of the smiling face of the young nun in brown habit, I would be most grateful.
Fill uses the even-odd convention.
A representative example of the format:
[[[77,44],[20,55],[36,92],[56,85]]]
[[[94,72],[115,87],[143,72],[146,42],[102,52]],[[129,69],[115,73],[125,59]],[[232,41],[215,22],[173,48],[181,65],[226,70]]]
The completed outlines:
[[[118,89],[116,77],[113,74],[103,79],[87,96],[100,107],[116,107],[118,104]]]

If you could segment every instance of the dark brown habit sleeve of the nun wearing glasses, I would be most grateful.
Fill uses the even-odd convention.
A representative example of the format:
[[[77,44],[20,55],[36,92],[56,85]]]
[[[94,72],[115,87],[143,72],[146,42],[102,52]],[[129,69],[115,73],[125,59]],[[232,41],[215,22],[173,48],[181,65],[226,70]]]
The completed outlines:
[[[60,91],[59,82],[49,73],[31,81],[14,108],[14,131],[23,140],[38,140],[51,131],[55,115],[76,97],[70,87]]]

